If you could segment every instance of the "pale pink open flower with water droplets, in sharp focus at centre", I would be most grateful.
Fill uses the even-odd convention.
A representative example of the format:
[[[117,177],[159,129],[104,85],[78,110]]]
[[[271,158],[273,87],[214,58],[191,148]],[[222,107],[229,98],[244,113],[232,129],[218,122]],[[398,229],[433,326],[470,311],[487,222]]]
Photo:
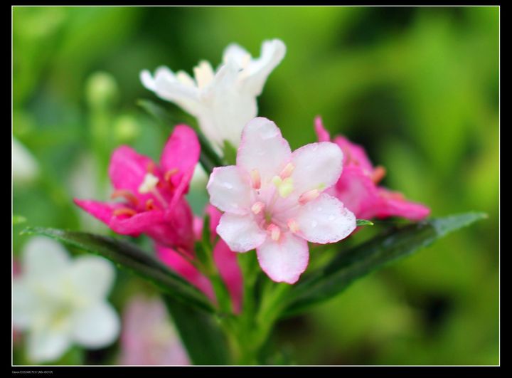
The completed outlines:
[[[356,217],[323,193],[341,174],[343,153],[331,142],[290,150],[266,118],[242,131],[237,164],[213,169],[210,203],[224,211],[217,232],[231,251],[256,248],[272,280],[295,283],[309,261],[307,241],[334,243],[356,228]]]

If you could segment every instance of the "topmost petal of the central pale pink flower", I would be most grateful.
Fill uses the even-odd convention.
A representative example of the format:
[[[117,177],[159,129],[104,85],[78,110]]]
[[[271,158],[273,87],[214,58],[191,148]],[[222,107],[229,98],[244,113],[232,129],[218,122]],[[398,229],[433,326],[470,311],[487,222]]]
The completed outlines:
[[[289,144],[279,127],[264,117],[245,125],[237,154],[237,165],[247,172],[257,169],[262,183],[278,175],[292,156]]]

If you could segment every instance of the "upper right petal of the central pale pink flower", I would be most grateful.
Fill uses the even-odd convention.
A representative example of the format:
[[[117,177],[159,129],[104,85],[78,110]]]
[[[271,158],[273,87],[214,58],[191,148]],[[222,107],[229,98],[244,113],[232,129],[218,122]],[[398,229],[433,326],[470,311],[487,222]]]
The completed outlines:
[[[331,187],[341,175],[342,162],[343,152],[331,142],[310,143],[296,149],[292,154],[295,193]]]

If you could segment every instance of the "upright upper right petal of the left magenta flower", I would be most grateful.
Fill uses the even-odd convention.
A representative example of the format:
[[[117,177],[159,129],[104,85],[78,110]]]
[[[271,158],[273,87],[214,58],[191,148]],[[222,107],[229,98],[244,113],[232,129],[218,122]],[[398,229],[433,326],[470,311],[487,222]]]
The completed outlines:
[[[188,179],[184,192],[188,189],[188,182],[196,168],[200,151],[196,132],[186,125],[178,125],[174,128],[162,151],[160,166],[164,174],[177,169],[177,172],[171,176],[172,184],[177,187],[184,177]]]

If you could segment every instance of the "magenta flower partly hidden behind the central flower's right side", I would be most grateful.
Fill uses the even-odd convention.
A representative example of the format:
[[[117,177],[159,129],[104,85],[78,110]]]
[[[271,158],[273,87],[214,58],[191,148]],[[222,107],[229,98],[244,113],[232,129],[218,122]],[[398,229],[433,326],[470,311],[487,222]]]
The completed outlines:
[[[315,130],[320,142],[331,140],[320,117],[316,117]],[[379,187],[385,169],[373,167],[363,147],[341,136],[335,137],[334,142],[343,150],[343,173],[329,192],[359,219],[402,216],[420,220],[430,214],[426,206],[407,201],[398,191]]]

